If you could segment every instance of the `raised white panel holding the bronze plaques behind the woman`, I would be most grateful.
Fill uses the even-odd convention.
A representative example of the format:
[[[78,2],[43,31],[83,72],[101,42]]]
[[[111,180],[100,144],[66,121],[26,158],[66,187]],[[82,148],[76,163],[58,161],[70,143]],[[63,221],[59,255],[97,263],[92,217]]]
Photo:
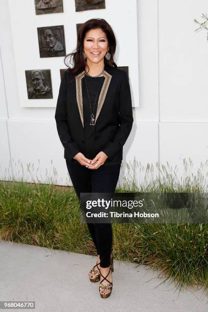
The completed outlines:
[[[60,68],[66,68],[64,57],[40,58],[37,28],[51,25],[64,25],[66,53],[76,47],[76,23],[83,23],[89,18],[107,18],[112,25],[116,39],[115,62],[118,66],[128,66],[130,87],[132,90],[133,107],[139,107],[139,74],[138,74],[138,41],[137,41],[137,0],[126,3],[120,0],[107,0],[106,9],[75,12],[74,0],[63,1],[63,13],[35,14],[34,0],[9,1],[9,12],[15,51],[15,65],[19,91],[19,104],[23,108],[56,107],[58,86],[60,85]],[[119,19],[115,19],[115,9],[119,6]],[[27,12],[27,14],[22,14]],[[21,19],[19,18],[21,16]],[[123,23],[123,20],[131,23]],[[27,30],[25,30],[27,25]],[[129,33],[131,32],[131,36]],[[136,40],[132,40],[136,38]],[[131,45],[131,58],[129,46]],[[25,70],[49,69],[53,98],[28,99],[25,84]]]

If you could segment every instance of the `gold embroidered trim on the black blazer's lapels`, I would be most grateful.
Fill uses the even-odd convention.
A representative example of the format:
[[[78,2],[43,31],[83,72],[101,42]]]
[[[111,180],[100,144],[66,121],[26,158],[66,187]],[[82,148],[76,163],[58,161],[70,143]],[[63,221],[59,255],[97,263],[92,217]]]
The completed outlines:
[[[76,102],[78,105],[78,109],[80,112],[80,118],[82,120],[82,125],[84,127],[84,116],[83,116],[83,97],[82,97],[82,79],[85,75],[85,71],[81,72],[79,75],[75,77],[76,79]],[[108,92],[108,88],[111,82],[112,75],[110,75],[106,70],[103,71],[103,76],[105,77],[105,81],[103,82],[102,89],[100,91],[98,104],[97,104],[97,111],[95,116],[95,123],[103,106],[103,103],[106,98],[106,94]]]

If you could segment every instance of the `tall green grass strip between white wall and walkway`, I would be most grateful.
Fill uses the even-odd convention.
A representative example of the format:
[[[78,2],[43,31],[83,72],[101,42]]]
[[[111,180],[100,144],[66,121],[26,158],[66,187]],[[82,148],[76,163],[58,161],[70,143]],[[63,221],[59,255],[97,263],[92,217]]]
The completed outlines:
[[[116,192],[207,192],[201,174],[188,172],[178,179],[167,165],[158,175],[153,166],[141,167],[145,183],[138,183],[136,161],[127,164],[127,174]],[[207,163],[205,163],[207,165]],[[192,166],[192,162],[191,162]],[[176,168],[175,168],[176,169]],[[133,174],[131,173],[133,172]],[[201,286],[208,294],[208,224],[112,224],[113,254],[121,261],[161,269],[163,281],[172,278],[178,288]],[[79,200],[73,188],[54,183],[22,180],[0,181],[0,239],[22,244],[96,254],[87,224],[80,222]]]

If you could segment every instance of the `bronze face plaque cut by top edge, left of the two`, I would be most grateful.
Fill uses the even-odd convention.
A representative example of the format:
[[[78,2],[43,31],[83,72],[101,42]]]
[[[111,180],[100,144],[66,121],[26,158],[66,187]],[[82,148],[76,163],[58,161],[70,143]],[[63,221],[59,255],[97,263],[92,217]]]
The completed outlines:
[[[62,0],[34,0],[36,15],[48,13],[62,13]]]

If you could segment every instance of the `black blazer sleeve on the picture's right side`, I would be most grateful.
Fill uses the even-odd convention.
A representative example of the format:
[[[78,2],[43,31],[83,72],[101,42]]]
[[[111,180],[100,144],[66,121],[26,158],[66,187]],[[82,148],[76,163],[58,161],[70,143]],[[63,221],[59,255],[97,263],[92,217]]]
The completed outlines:
[[[133,111],[132,111],[132,97],[129,86],[127,73],[124,71],[121,87],[120,87],[120,106],[119,106],[119,129],[114,137],[113,141],[110,141],[102,151],[107,154],[111,161],[115,154],[125,144],[134,122]]]

